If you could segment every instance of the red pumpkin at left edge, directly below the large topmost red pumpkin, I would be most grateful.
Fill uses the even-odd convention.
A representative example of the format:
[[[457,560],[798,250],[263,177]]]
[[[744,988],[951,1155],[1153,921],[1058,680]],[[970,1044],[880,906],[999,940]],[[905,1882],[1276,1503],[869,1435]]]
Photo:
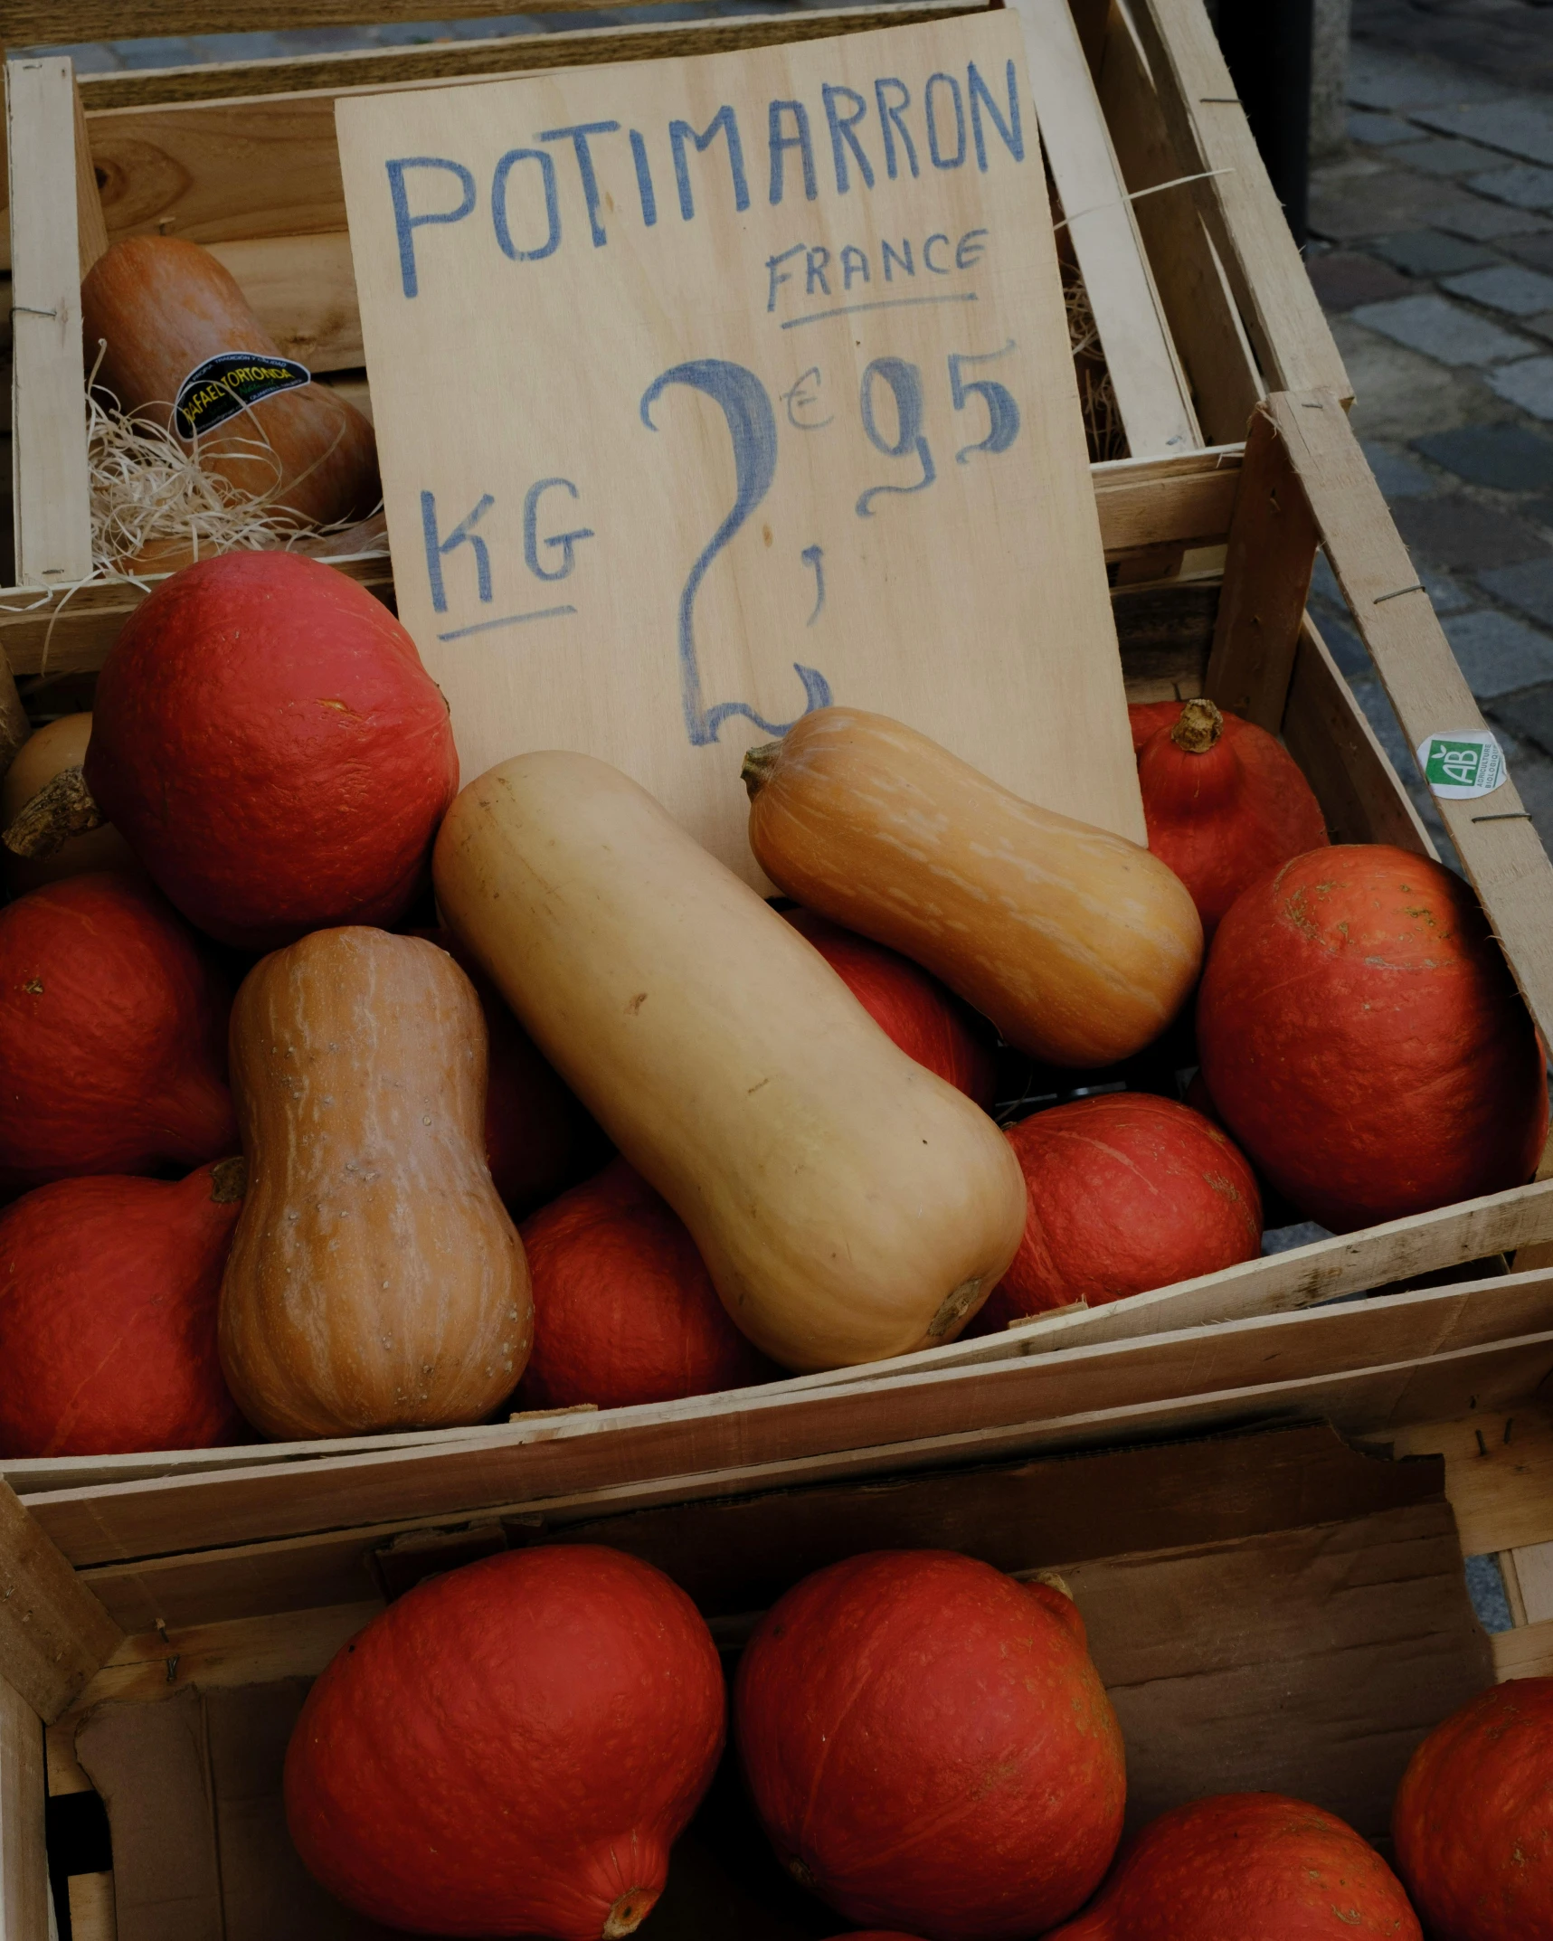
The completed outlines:
[[[237,1147],[227,988],[144,879],[0,910],[0,1186],[198,1167]]]

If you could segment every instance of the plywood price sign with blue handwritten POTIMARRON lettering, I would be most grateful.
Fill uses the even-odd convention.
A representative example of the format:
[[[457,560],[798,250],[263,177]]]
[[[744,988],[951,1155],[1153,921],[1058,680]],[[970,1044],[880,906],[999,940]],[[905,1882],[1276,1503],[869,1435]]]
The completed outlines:
[[[743,749],[835,699],[1143,839],[1013,14],[338,126],[466,776],[584,749],[759,881]]]

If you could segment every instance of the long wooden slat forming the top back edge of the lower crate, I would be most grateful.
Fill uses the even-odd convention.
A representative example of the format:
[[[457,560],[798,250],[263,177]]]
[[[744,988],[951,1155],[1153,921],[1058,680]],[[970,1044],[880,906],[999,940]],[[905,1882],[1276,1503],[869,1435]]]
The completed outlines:
[[[1303,1382],[1330,1380],[1334,1370],[1361,1366],[1390,1370],[1400,1403],[1415,1380],[1433,1396],[1425,1361],[1438,1365],[1435,1388],[1448,1394],[1456,1394],[1462,1366],[1475,1368],[1481,1355],[1493,1361],[1504,1353],[1514,1361],[1526,1353],[1543,1372],[1553,1366],[1553,1275],[1440,1295],[1435,1289],[897,1382],[780,1396],[749,1390],[720,1398],[714,1409],[703,1399],[623,1409],[559,1425],[545,1442],[514,1427],[439,1450],[45,1491],[29,1497],[29,1510],[80,1566],[346,1528],[380,1516],[388,1504],[396,1516],[437,1518],[563,1493],[608,1497],[621,1479],[633,1487],[672,1479],[687,1495],[699,1493],[695,1479],[701,1479],[712,1493],[726,1493],[749,1487],[751,1471],[796,1465],[815,1473],[817,1465],[829,1473],[827,1465],[835,1465],[843,1473],[864,1460],[858,1452],[920,1467],[945,1460],[945,1450],[996,1438],[1011,1425],[1054,1438],[1093,1417],[1110,1432],[1118,1423],[1134,1423],[1130,1432],[1143,1434],[1180,1398],[1211,1392],[1254,1415],[1279,1407],[1273,1390],[1281,1396]],[[1526,1333],[1512,1333],[1520,1326]],[[1386,1361],[1394,1349],[1400,1351]],[[1460,1409],[1462,1403],[1425,1399],[1417,1419]]]

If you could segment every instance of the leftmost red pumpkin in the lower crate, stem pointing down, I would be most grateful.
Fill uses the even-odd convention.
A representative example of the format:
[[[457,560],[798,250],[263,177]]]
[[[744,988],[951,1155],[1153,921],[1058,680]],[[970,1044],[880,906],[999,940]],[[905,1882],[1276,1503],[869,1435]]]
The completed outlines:
[[[722,1667],[621,1551],[509,1551],[336,1654],[285,1755],[285,1823],[346,1906],[413,1933],[629,1935],[716,1770]]]

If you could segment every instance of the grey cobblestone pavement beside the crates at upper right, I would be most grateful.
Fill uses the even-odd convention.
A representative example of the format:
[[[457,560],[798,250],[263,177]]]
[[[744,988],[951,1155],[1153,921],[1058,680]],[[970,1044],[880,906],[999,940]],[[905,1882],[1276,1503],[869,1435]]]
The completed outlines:
[[[1355,431],[1553,848],[1553,6],[1355,0],[1349,101],[1349,148],[1312,175],[1310,280]],[[1429,811],[1324,563],[1312,608]]]

